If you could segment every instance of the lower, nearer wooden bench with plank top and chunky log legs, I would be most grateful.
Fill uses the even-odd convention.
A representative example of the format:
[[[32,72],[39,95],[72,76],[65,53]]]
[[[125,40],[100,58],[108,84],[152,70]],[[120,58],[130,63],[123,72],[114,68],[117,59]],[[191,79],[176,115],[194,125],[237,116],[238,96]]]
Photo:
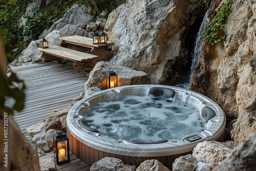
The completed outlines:
[[[44,59],[45,62],[58,60],[58,57],[74,61],[75,63],[73,67],[77,71],[91,71],[95,66],[95,61],[98,61],[97,55],[63,48],[56,45],[49,46],[49,48],[45,49],[38,48],[38,50],[43,52],[41,58]]]

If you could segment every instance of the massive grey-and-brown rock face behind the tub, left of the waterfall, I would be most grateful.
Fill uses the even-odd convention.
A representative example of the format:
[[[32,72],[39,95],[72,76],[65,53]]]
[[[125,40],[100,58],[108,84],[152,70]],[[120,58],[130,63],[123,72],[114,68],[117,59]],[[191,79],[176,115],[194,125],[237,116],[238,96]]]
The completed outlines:
[[[153,84],[184,83],[207,5],[202,0],[128,0],[109,15],[104,28],[115,44],[111,62],[146,72]]]

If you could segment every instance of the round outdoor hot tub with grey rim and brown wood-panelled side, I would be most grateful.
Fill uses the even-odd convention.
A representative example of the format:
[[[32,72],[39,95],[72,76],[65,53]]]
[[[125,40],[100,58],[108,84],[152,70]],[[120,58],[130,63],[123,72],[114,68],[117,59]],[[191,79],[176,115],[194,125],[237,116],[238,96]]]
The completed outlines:
[[[138,95],[138,98],[131,100],[129,95]],[[142,104],[137,101],[140,98],[148,102]],[[123,99],[124,102],[122,102]],[[101,107],[103,106],[102,101],[117,105],[116,101],[119,100],[121,100],[119,106],[124,103],[125,109],[119,109],[118,106],[118,109],[108,110],[107,107],[104,107],[107,111],[101,111],[103,108]],[[163,100],[163,104],[159,100]],[[134,108],[126,106],[131,101]],[[180,101],[179,103],[182,105],[174,107],[171,104],[173,101]],[[147,104],[152,104],[152,106],[147,107]],[[182,112],[181,109],[185,109],[187,106],[190,106],[191,110],[188,109]],[[136,111],[133,111],[137,108],[150,112],[145,112],[145,115],[137,114]],[[125,114],[125,117],[130,117],[126,116],[126,113],[132,111],[134,116],[130,117],[133,118],[131,123],[138,124],[132,126],[132,131],[125,133],[123,127],[131,124],[126,122],[129,119],[122,119],[121,115],[117,115],[117,113],[120,113],[119,110],[121,110],[122,115]],[[168,110],[170,110],[169,115]],[[198,111],[196,115],[186,116],[188,115],[186,113],[192,110]],[[161,112],[163,112],[162,115]],[[172,120],[172,118],[175,120],[178,115],[182,116],[181,124]],[[114,119],[108,120],[108,116]],[[145,123],[147,116],[151,116],[153,119]],[[162,120],[158,119],[157,116],[163,116]],[[102,122],[103,124],[95,125],[96,123],[91,123],[92,119],[90,117],[94,117],[96,122]],[[115,117],[118,117],[118,119],[115,119]],[[168,118],[170,120],[167,120]],[[184,120],[187,120],[188,124],[191,121],[191,124],[199,127],[193,128],[190,127],[191,125],[184,125]],[[105,121],[109,122],[105,123]],[[114,124],[114,122],[120,125],[116,126],[116,134],[112,134],[113,129],[109,128],[109,125]],[[146,125],[144,126],[145,130],[141,130],[140,127],[143,124]],[[154,127],[151,124],[155,125],[157,129],[163,127],[164,130],[151,130]],[[78,101],[68,113],[67,134],[73,154],[89,165],[104,157],[119,158],[125,164],[136,165],[137,167],[145,160],[156,159],[171,169],[176,158],[191,154],[191,151],[199,142],[212,140],[222,142],[225,136],[225,124],[226,117],[220,106],[199,93],[171,86],[136,85],[103,90]],[[184,129],[178,127],[179,125],[183,125]],[[118,129],[119,127],[120,129]],[[134,127],[135,129],[133,129]],[[178,128],[178,133],[173,133],[176,128]],[[111,134],[105,135],[105,133],[108,133],[108,130],[105,131],[105,129],[110,129]],[[157,132],[156,138],[151,139],[152,132]],[[187,135],[179,134],[179,132],[187,133]],[[145,139],[141,139],[139,134]],[[116,135],[121,136],[119,138]]]

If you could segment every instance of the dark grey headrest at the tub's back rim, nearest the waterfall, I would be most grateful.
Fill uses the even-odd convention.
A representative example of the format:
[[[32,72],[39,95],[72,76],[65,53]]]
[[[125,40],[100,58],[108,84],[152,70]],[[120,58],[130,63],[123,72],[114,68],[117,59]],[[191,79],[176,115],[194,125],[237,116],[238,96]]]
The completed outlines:
[[[163,87],[153,87],[150,89],[150,94],[154,96],[163,96],[165,98],[170,98],[175,96],[175,91],[170,88],[163,88]]]

